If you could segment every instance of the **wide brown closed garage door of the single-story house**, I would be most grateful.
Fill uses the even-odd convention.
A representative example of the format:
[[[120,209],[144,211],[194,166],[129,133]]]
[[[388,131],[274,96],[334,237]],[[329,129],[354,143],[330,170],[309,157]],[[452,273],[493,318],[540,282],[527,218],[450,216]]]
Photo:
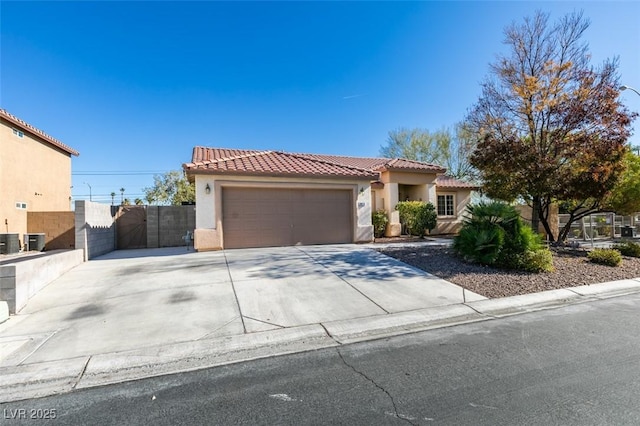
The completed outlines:
[[[225,248],[350,243],[350,190],[223,188]]]

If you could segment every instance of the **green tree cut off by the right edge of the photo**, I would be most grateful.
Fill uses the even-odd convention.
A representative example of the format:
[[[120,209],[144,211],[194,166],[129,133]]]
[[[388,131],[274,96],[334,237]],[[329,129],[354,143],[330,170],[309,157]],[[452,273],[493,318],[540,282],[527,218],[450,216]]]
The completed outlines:
[[[640,155],[628,152],[624,157],[626,169],[611,191],[607,207],[618,214],[640,212]]]

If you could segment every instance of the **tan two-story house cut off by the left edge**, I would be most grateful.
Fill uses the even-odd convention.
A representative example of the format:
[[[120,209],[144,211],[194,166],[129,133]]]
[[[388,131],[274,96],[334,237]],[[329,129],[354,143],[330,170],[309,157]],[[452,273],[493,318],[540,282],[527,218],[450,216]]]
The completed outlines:
[[[0,233],[27,232],[28,211],[69,211],[73,148],[0,109]]]

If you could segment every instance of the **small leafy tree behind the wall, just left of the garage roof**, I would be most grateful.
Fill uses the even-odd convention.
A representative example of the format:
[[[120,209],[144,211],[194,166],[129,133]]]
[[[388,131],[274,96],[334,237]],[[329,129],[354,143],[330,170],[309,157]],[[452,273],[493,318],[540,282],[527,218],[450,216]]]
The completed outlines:
[[[183,201],[195,201],[195,184],[189,183],[184,172],[172,170],[153,176],[153,186],[143,188],[149,204],[179,206]]]

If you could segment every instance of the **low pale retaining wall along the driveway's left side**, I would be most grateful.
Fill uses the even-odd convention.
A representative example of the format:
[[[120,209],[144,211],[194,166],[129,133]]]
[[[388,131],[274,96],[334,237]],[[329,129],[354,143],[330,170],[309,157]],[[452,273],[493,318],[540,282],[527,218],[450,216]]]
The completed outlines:
[[[83,261],[83,250],[54,250],[0,265],[0,300],[15,314],[38,291]]]

